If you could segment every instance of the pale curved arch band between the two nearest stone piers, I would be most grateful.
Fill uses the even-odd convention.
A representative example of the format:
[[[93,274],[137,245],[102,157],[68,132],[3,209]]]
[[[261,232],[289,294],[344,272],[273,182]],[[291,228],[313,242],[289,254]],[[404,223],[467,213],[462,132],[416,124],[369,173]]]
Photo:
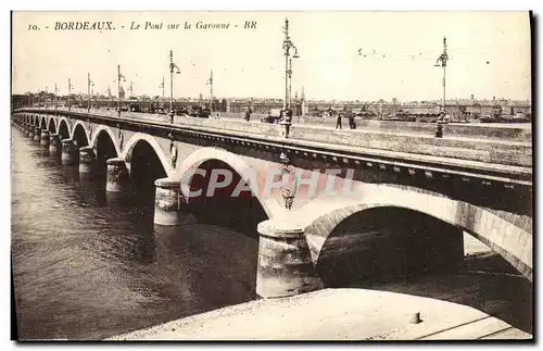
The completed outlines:
[[[219,161],[231,167],[249,186],[251,192],[256,198],[268,218],[273,218],[276,216],[278,211],[281,210],[274,199],[263,197],[262,193],[258,192],[258,179],[255,179],[255,176],[257,177],[257,175],[254,170],[251,168],[241,156],[224,149],[201,148],[192,152],[182,161],[180,165],[176,167],[173,178],[175,180],[182,181],[187,172],[199,168],[209,161]]]

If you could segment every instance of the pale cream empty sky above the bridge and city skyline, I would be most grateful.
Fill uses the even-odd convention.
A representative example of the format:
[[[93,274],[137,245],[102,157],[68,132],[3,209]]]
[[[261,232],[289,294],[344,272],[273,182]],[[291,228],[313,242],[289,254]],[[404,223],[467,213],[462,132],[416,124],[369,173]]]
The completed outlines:
[[[527,12],[15,12],[12,88],[117,93],[125,89],[169,96],[169,50],[180,74],[174,97],[282,98],[285,18],[300,58],[293,59],[292,96],[307,99],[401,101],[442,98],[443,70],[435,61],[447,40],[446,97],[528,100],[531,96],[530,25]],[[112,21],[114,30],[54,30],[56,22]],[[256,28],[243,28],[245,21]],[[140,29],[130,29],[131,23]],[[163,24],[144,29],[146,22]],[[185,23],[191,24],[184,29]],[[197,22],[229,24],[197,29]],[[167,29],[179,24],[179,29]],[[39,30],[33,30],[36,25]],[[238,27],[236,27],[236,25]],[[122,27],[124,26],[124,28]],[[49,27],[49,28],[46,28]]]

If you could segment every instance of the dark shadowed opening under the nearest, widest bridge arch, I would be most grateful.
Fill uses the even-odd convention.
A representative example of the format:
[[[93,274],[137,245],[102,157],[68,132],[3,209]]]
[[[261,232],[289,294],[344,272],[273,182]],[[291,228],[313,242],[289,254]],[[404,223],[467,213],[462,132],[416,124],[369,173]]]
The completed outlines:
[[[463,261],[455,226],[405,208],[370,206],[333,227],[315,266],[326,286],[341,287],[455,269]]]

